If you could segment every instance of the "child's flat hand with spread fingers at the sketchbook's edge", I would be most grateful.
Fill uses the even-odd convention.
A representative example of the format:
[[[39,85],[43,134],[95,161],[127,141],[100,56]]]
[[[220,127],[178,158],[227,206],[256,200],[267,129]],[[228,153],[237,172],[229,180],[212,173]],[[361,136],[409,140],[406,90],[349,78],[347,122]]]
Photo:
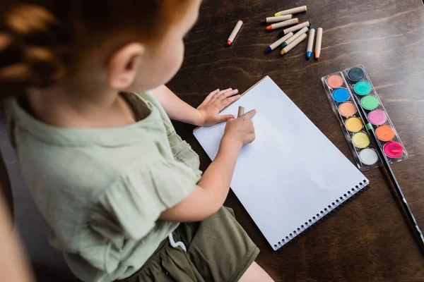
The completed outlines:
[[[232,90],[228,88],[226,90],[220,91],[219,89],[208,94],[208,97],[204,100],[203,103],[197,108],[201,115],[201,126],[211,126],[216,123],[222,123],[223,121],[228,121],[230,118],[234,118],[233,115],[223,115],[220,116],[219,112],[222,111],[226,106],[232,102],[240,99],[240,95],[235,95],[238,93],[238,90]]]

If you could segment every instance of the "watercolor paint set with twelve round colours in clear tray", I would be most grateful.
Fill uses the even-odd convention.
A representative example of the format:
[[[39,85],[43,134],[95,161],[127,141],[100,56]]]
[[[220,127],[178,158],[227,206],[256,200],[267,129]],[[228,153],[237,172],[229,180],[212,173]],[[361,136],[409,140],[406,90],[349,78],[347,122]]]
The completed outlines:
[[[366,171],[382,165],[377,154],[381,147],[390,163],[403,161],[408,153],[386,109],[362,65],[331,73],[321,78],[331,109],[338,118],[356,164]],[[360,115],[365,110],[366,121]],[[373,144],[366,125],[375,130],[379,144]]]

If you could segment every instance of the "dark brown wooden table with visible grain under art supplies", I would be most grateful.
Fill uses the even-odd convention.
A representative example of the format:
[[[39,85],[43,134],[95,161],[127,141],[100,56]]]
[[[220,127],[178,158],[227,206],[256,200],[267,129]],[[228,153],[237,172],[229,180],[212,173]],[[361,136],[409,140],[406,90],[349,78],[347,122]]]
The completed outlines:
[[[260,20],[295,6],[296,16],[323,27],[319,61],[305,59],[305,42],[281,57],[264,54],[278,31]],[[225,46],[238,19],[245,21],[232,47]],[[189,33],[186,59],[169,87],[193,106],[217,87],[244,92],[270,75],[341,152],[353,157],[329,107],[320,78],[363,64],[401,136],[409,158],[392,167],[424,228],[424,6],[421,0],[209,0]],[[192,136],[179,133],[210,160]],[[424,281],[424,259],[378,168],[366,171],[371,188],[321,224],[274,252],[230,192],[226,204],[261,249],[257,262],[276,281]],[[281,196],[283,197],[283,195]],[[276,223],[278,224],[278,223]],[[424,230],[424,229],[423,229]]]

